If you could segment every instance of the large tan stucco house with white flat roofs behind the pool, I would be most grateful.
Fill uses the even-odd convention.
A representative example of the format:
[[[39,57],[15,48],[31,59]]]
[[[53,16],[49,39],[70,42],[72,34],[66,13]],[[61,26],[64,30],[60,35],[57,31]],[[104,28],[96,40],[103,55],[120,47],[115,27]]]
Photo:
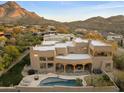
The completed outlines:
[[[44,38],[42,45],[30,48],[31,67],[38,72],[78,73],[113,69],[114,50],[110,44],[81,38],[61,42],[55,35]]]

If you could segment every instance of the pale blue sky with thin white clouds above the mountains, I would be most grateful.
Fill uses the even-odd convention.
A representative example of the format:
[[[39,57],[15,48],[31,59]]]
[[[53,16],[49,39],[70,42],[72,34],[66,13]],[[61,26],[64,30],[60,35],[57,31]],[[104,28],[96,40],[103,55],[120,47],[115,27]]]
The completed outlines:
[[[0,4],[5,2],[0,2]],[[124,15],[124,1],[17,1],[41,17],[61,22]]]

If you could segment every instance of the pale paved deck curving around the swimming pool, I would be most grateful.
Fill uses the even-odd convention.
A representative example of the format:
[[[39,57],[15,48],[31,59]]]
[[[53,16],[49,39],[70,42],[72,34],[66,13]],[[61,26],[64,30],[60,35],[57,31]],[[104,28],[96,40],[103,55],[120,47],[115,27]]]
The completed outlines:
[[[57,75],[54,73],[48,73],[48,74],[37,74],[37,76],[39,76],[38,80],[34,80],[34,77],[36,75],[29,75],[26,76],[22,79],[22,81],[20,82],[20,84],[18,86],[26,86],[26,87],[38,87],[38,85],[40,84],[40,81],[48,78],[48,77],[59,77],[62,79],[76,79],[76,78],[80,78],[83,80],[83,86],[86,86],[86,81],[84,80],[85,76],[88,75],[80,75],[80,76],[67,76],[67,75]]]

